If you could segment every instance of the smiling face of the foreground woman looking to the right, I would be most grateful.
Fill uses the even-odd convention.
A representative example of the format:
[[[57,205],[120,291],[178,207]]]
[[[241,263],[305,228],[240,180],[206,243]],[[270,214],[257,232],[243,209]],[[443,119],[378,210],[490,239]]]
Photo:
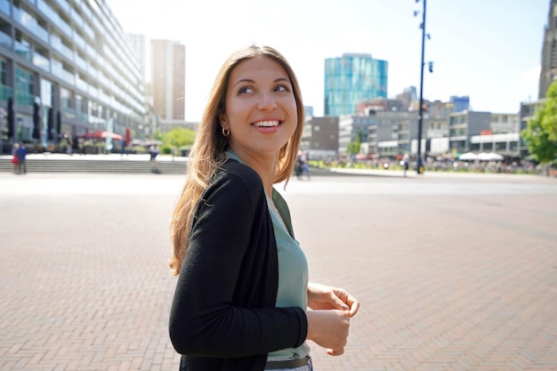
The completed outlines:
[[[293,86],[287,71],[269,57],[254,57],[230,73],[221,125],[239,157],[278,156],[298,123]]]

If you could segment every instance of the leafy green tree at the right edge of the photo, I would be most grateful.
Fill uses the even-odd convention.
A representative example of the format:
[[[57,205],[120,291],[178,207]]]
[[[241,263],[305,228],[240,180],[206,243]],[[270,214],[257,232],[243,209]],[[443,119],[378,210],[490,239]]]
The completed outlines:
[[[547,90],[546,100],[537,106],[521,136],[532,157],[547,165],[557,157],[557,82]]]

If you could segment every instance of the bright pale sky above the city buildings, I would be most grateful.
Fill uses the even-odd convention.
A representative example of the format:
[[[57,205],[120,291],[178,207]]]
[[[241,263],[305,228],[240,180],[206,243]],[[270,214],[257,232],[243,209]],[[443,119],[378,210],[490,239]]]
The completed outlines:
[[[420,93],[424,0],[106,2],[125,32],[185,45],[187,121],[200,119],[222,62],[247,44],[270,45],[287,58],[315,117],[323,115],[325,59],[343,53],[387,60],[390,98],[408,86]],[[424,99],[468,95],[473,110],[496,113],[537,101],[549,4],[427,1]]]

